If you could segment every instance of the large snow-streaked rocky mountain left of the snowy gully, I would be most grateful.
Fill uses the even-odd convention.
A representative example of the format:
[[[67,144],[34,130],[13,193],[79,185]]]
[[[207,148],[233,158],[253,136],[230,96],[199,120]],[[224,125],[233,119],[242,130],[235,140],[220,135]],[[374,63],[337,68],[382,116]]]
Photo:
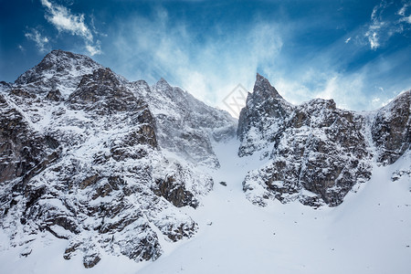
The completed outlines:
[[[141,85],[60,50],[16,83],[0,83],[0,227],[11,246],[29,249],[49,233],[67,240],[64,258],[80,255],[91,268],[106,253],[156,259],[160,237],[195,234],[198,225],[178,207],[196,207],[211,190],[211,176],[196,165],[216,166],[210,136],[224,140],[235,122],[168,84]],[[169,143],[171,125],[184,128]],[[198,150],[184,147],[184,130]],[[179,160],[170,151],[193,155]]]

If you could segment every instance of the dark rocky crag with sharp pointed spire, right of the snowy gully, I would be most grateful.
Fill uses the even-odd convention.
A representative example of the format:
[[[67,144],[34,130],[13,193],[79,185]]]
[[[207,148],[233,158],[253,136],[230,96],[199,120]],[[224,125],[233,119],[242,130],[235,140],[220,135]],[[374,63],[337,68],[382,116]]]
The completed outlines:
[[[248,199],[340,205],[354,184],[371,177],[374,147],[378,161],[389,163],[409,149],[409,91],[373,115],[339,110],[333,100],[292,106],[258,75],[238,121],[238,154],[269,160],[245,178]]]

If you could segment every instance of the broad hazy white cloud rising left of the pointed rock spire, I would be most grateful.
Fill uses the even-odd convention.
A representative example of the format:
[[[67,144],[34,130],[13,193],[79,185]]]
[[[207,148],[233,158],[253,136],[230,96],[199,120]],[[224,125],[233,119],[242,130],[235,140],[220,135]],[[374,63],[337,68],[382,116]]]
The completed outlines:
[[[112,50],[120,53],[121,74],[129,79],[143,75],[152,82],[163,77],[223,109],[223,99],[239,83],[252,90],[256,72],[263,73],[282,47],[274,24],[256,21],[237,32],[215,25],[214,35],[203,37],[183,20],[171,21],[163,8],[153,17],[133,18],[115,27],[120,31],[113,37]]]

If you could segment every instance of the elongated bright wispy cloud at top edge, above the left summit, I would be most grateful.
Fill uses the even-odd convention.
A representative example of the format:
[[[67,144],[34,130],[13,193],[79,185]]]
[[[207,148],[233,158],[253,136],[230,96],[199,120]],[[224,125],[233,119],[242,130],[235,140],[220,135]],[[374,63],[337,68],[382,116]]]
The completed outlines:
[[[84,39],[86,49],[90,55],[100,54],[100,43],[94,43],[94,37],[89,26],[84,22],[84,15],[73,15],[71,11],[63,6],[54,4],[48,0],[41,0],[41,4],[46,7],[46,19],[55,26],[59,32],[68,32],[73,36],[79,36]]]

